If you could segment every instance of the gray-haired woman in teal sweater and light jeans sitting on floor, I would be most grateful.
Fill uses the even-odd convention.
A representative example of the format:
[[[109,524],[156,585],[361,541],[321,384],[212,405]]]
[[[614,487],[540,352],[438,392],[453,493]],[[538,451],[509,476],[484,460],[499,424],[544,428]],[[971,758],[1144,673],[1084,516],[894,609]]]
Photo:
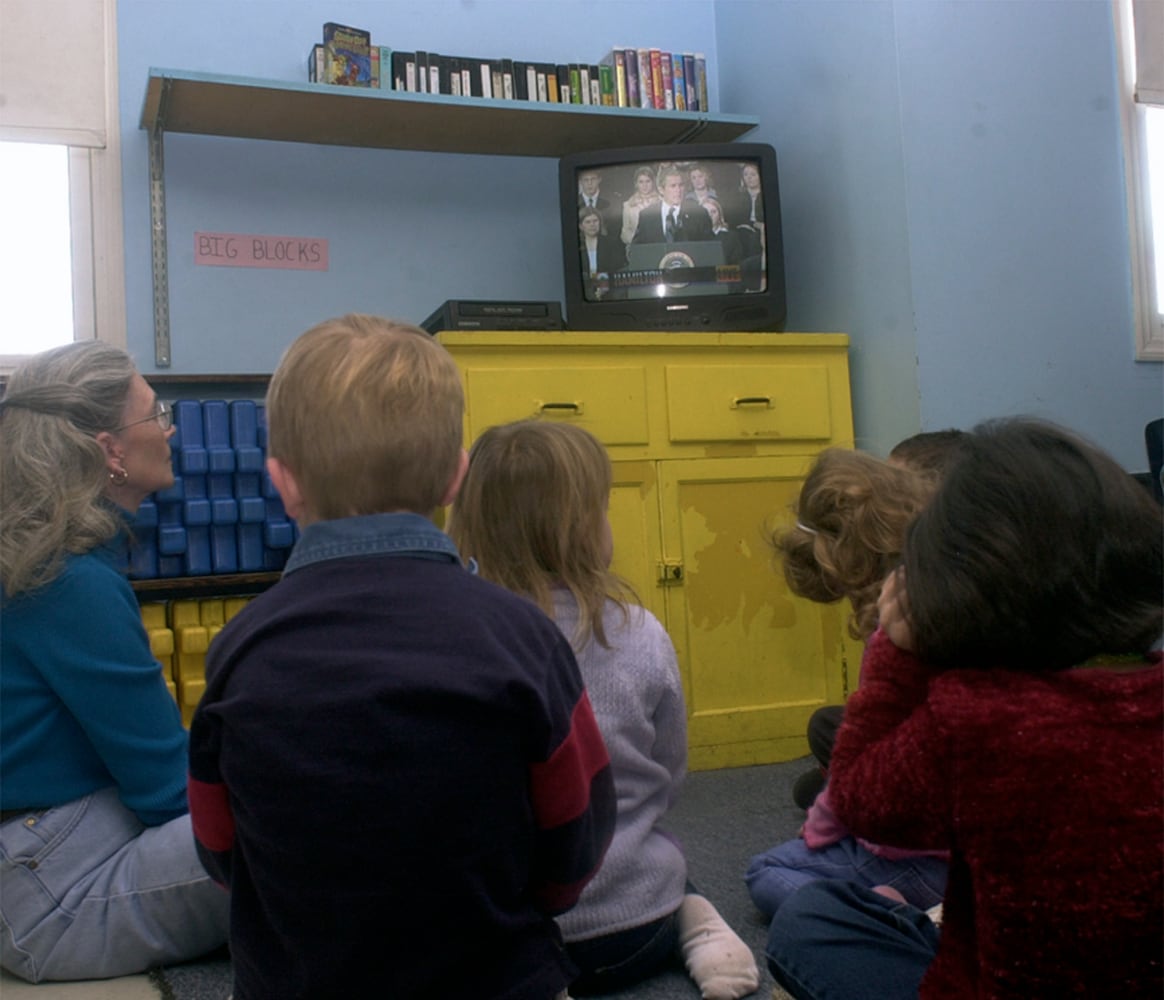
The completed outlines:
[[[186,732],[122,570],[172,485],[170,410],[123,350],[31,357],[0,400],[0,965],[99,979],[221,945]]]

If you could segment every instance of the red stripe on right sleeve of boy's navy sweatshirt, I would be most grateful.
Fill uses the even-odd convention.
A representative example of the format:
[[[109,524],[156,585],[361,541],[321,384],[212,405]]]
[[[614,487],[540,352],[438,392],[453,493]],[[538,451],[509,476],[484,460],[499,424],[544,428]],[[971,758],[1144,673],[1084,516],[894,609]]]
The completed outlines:
[[[602,742],[590,697],[583,692],[574,705],[566,739],[548,760],[530,768],[538,825],[553,830],[585,813],[594,778],[609,766],[606,744]]]

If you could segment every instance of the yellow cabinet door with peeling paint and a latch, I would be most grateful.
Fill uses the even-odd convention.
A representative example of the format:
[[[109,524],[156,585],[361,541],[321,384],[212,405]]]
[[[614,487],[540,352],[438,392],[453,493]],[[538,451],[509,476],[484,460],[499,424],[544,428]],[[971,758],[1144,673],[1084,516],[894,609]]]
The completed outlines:
[[[767,541],[792,522],[811,456],[659,463],[666,624],[687,695],[689,766],[808,753],[805,725],[845,694],[847,605],[793,596]]]

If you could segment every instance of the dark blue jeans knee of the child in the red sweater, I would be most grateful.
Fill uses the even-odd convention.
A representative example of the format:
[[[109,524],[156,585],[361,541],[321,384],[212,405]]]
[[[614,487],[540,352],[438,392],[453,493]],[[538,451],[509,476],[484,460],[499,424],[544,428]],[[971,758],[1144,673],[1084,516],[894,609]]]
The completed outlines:
[[[916,907],[852,882],[809,882],[772,919],[765,955],[796,1000],[917,1000],[938,929]]]

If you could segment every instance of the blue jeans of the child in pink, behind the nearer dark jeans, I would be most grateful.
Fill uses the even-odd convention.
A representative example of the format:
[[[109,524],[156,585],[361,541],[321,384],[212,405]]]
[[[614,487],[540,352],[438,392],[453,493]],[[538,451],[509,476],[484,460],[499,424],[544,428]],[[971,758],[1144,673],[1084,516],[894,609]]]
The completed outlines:
[[[752,858],[744,880],[765,916],[772,916],[801,886],[817,879],[843,879],[867,888],[893,886],[906,902],[929,909],[945,895],[947,870],[944,858],[887,860],[854,837],[815,851],[797,838]]]

